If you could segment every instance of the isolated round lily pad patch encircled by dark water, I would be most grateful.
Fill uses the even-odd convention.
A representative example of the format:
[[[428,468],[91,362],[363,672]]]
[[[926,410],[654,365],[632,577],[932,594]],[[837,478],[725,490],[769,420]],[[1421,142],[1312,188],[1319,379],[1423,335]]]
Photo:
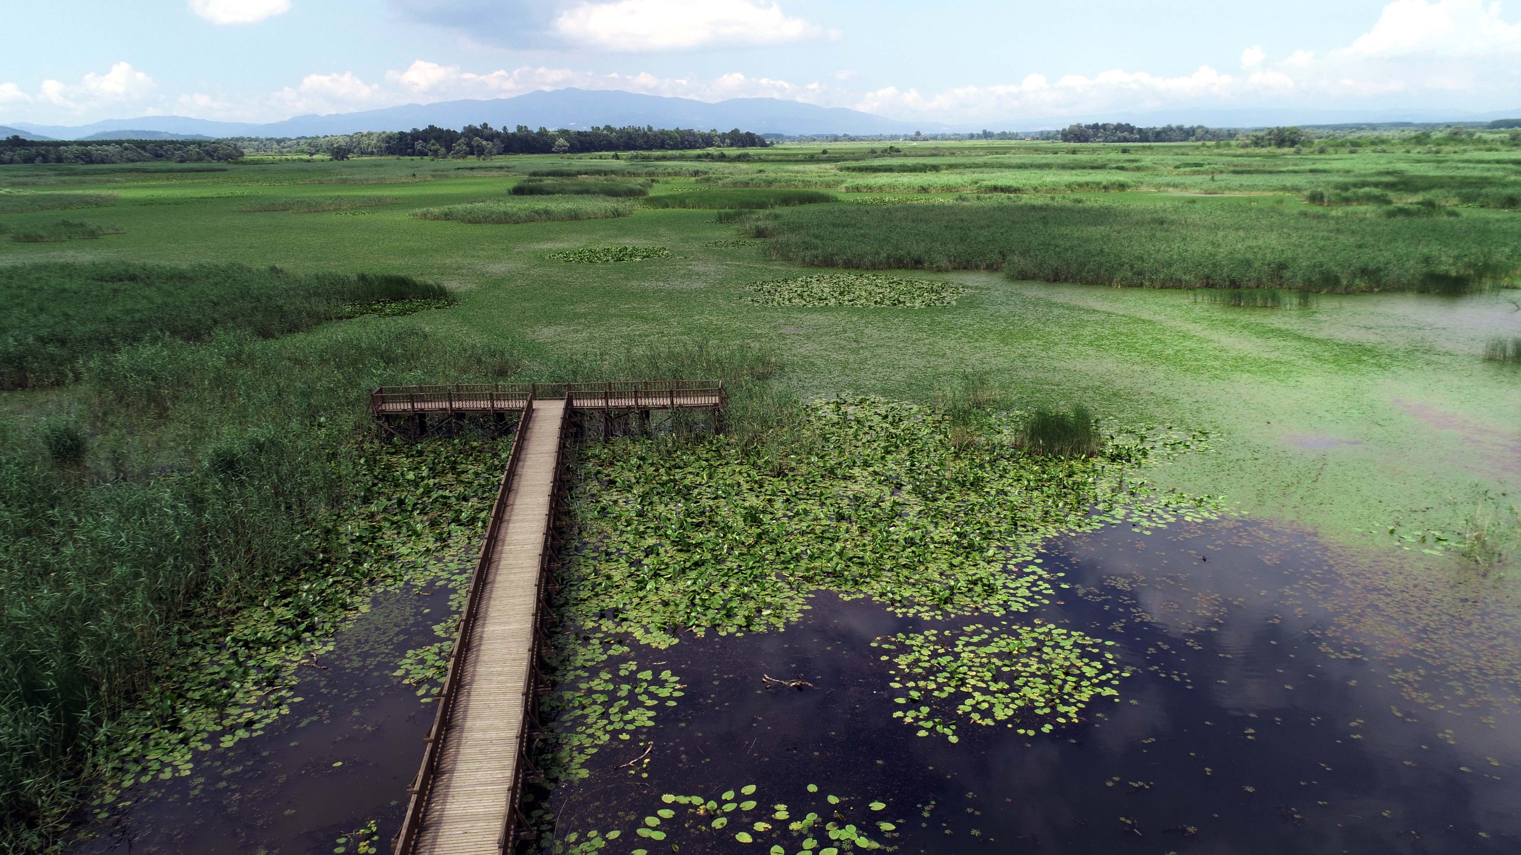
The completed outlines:
[[[907,706],[893,717],[920,736],[955,742],[957,721],[1005,723],[1025,736],[1075,724],[1094,698],[1119,695],[1126,671],[1104,650],[1112,644],[1051,624],[999,621],[900,633],[872,647],[888,651],[890,686],[903,692],[893,700]]]

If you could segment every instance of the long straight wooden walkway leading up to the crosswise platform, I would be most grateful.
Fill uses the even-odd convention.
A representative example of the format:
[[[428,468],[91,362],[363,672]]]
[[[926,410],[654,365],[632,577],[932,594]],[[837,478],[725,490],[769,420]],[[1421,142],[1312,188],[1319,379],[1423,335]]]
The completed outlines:
[[[473,619],[450,665],[458,685],[440,698],[452,703],[440,709],[433,768],[424,756],[397,855],[497,855],[511,841],[566,412],[566,400],[535,400],[520,423],[482,549],[484,578],[472,586]]]

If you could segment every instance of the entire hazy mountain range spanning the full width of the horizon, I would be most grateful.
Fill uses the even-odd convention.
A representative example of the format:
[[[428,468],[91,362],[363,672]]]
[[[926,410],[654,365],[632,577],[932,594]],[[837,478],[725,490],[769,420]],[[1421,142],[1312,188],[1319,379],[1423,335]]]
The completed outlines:
[[[438,125],[462,128],[488,123],[499,128],[598,128],[602,125],[651,125],[656,128],[719,129],[739,128],[756,134],[926,134],[966,132],[993,128],[1031,131],[1065,128],[1072,122],[1129,122],[1132,125],[1209,125],[1215,128],[1261,128],[1267,125],[1345,125],[1384,122],[1488,122],[1521,116],[1521,110],[1500,113],[1437,113],[1430,110],[1326,110],[1326,108],[1173,108],[1148,113],[1104,116],[1049,116],[1001,123],[943,125],[888,119],[846,110],[818,106],[774,97],[736,97],[709,103],[686,97],[663,97],[618,90],[532,91],[490,100],[444,100],[408,103],[362,113],[297,116],[283,122],[211,122],[184,116],[140,116],[111,119],[91,125],[33,125],[9,122],[0,138],[20,134],[29,138],[208,138],[208,137],[315,137],[357,131],[406,131]]]

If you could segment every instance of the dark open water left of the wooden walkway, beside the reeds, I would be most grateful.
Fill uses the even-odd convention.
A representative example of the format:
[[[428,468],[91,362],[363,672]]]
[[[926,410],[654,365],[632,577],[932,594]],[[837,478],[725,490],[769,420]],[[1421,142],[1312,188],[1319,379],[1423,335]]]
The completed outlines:
[[[432,625],[449,605],[447,589],[424,590],[432,595],[376,596],[319,659],[325,668],[300,669],[304,700],[289,715],[231,749],[198,753],[189,777],[152,797],[128,791],[138,802],[78,852],[333,852],[370,820],[389,852],[433,712],[392,672],[408,650],[438,640]]]

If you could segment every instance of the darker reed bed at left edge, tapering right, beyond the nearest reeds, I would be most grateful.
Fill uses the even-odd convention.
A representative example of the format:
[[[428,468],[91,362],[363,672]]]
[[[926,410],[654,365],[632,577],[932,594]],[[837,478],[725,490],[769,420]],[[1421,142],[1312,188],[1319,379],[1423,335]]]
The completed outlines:
[[[446,300],[438,284],[397,275],[295,275],[278,268],[40,263],[0,277],[0,388],[47,386],[84,361],[154,338],[201,341],[219,330],[274,338],[356,303]]]

